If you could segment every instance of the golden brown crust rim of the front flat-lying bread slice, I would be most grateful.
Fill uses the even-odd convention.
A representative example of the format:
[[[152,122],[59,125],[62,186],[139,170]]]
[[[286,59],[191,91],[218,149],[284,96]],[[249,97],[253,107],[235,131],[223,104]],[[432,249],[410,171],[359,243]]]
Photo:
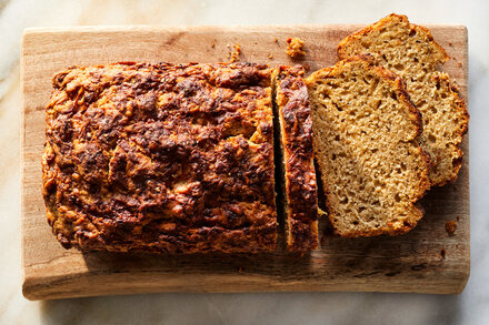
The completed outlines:
[[[397,98],[402,101],[410,111],[410,119],[413,125],[416,125],[417,132],[412,134],[412,136],[410,136],[410,139],[408,139],[408,141],[415,141],[416,136],[419,135],[422,131],[422,121],[421,121],[421,114],[419,113],[419,111],[415,108],[415,105],[412,104],[412,102],[409,99],[409,94],[406,91],[406,88],[403,85],[402,80],[397,77],[393,72],[391,72],[390,70],[387,70],[385,68],[382,68],[381,65],[378,65],[375,58],[369,55],[369,54],[359,54],[359,55],[355,55],[355,57],[349,57],[346,60],[342,60],[340,62],[338,62],[336,65],[333,67],[328,67],[325,69],[321,69],[315,73],[312,73],[307,80],[306,83],[308,87],[312,87],[315,84],[315,82],[317,80],[323,80],[323,79],[328,79],[328,78],[336,78],[337,74],[341,74],[342,73],[342,69],[345,64],[348,64],[349,62],[362,62],[362,64],[366,67],[367,70],[372,71],[375,74],[377,74],[379,78],[385,79],[386,81],[388,81],[392,89],[396,91]],[[319,152],[317,146],[317,141],[315,141],[315,152]],[[417,223],[419,222],[419,220],[421,220],[421,217],[423,216],[423,211],[422,207],[417,203],[417,201],[419,199],[421,199],[426,191],[428,191],[430,189],[430,182],[429,182],[429,170],[430,170],[430,158],[429,155],[421,149],[421,146],[418,144],[416,148],[419,156],[422,158],[425,167],[422,169],[420,175],[419,175],[419,184],[417,186],[418,192],[416,193],[416,195],[413,195],[413,197],[411,197],[411,220],[410,221],[406,221],[403,223],[402,226],[395,226],[393,224],[387,224],[387,227],[381,227],[381,228],[371,228],[369,231],[350,231],[350,232],[346,232],[346,231],[338,231],[338,226],[336,226],[336,221],[335,219],[338,217],[336,215],[335,212],[335,206],[331,203],[331,199],[330,199],[330,190],[328,189],[328,184],[327,182],[321,182],[322,183],[322,189],[323,189],[323,193],[325,193],[325,199],[326,199],[326,207],[328,211],[328,217],[329,221],[331,223],[331,225],[333,226],[333,232],[337,235],[341,235],[343,237],[359,237],[359,236],[378,236],[381,234],[387,234],[387,235],[399,235],[399,234],[403,234],[409,232],[410,230],[412,230]],[[321,173],[323,173],[325,171],[321,171]],[[339,216],[341,217],[341,216]]]

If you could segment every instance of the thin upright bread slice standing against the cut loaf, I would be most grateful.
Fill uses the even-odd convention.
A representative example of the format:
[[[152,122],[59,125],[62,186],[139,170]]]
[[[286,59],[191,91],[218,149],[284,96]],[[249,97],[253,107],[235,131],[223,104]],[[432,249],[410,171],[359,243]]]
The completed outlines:
[[[312,120],[301,65],[277,69],[275,109],[280,125],[287,246],[310,251],[318,247],[318,197]]]

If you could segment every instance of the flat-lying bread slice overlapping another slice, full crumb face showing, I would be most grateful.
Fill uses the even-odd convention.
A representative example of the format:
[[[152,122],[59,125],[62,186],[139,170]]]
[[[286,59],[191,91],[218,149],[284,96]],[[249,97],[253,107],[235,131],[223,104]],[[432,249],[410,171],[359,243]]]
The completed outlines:
[[[421,116],[402,81],[370,55],[307,79],[315,155],[329,220],[341,236],[396,235],[422,217],[429,156],[416,138]]]

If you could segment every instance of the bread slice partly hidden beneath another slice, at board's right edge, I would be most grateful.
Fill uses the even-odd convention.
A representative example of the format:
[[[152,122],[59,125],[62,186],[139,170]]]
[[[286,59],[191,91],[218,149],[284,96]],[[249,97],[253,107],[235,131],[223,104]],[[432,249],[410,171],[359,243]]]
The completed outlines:
[[[428,29],[411,24],[406,16],[390,14],[356,32],[338,47],[340,60],[370,53],[406,83],[409,95],[422,114],[423,132],[418,136],[433,162],[431,185],[457,179],[463,152],[462,135],[469,114],[450,78],[438,71],[447,52]]]

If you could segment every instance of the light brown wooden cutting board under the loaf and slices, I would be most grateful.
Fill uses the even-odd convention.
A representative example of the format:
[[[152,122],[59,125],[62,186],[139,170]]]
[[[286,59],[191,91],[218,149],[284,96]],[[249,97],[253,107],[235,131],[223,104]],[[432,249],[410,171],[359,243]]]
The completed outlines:
[[[21,73],[23,294],[30,299],[149,292],[367,291],[460,293],[469,277],[469,141],[459,179],[423,200],[426,216],[398,237],[322,236],[321,247],[298,256],[160,256],[67,251],[46,221],[41,195],[44,106],[54,72],[76,64],[118,61],[226,62],[241,44],[241,61],[333,64],[338,42],[361,26],[32,29],[23,35]],[[452,57],[443,70],[467,99],[467,29],[431,26]],[[308,54],[292,62],[285,40],[300,37]],[[277,41],[276,41],[277,40]],[[453,235],[446,222],[458,223]],[[322,225],[323,228],[323,225]]]

